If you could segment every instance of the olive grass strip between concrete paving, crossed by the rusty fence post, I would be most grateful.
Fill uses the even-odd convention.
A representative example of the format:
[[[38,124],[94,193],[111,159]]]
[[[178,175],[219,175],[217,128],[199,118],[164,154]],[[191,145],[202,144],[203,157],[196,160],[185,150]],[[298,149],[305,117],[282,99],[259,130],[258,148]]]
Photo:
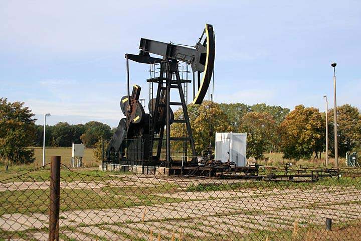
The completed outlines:
[[[123,208],[180,202],[179,198],[163,198],[155,193],[174,192],[171,185],[155,187],[114,187],[94,189],[61,189],[60,211]],[[0,216],[6,213],[47,213],[50,189],[0,192]]]

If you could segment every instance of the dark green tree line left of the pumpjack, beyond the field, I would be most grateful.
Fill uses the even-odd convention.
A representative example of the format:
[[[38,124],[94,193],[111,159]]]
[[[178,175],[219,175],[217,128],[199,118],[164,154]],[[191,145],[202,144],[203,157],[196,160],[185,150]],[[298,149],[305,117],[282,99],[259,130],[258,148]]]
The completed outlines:
[[[0,163],[34,162],[34,149],[43,146],[43,125],[35,125],[35,114],[24,102],[10,102],[0,97]],[[60,122],[46,126],[45,144],[48,147],[70,147],[72,143],[83,143],[94,148],[101,139],[110,139],[114,130],[101,122],[69,125]]]

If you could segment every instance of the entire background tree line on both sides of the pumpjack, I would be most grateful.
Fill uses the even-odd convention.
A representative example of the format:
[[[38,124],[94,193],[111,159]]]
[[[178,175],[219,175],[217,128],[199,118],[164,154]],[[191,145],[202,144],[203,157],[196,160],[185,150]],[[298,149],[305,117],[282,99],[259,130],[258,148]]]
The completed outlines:
[[[320,158],[325,151],[325,113],[314,107],[295,106],[294,110],[281,106],[243,103],[211,103],[188,105],[188,112],[196,144],[196,151],[214,147],[216,132],[247,133],[247,158],[260,159],[265,152],[282,152],[287,159]],[[174,112],[176,119],[183,111]],[[334,152],[333,109],[328,110],[329,154]],[[361,114],[349,104],[337,107],[337,138],[339,156],[361,146]],[[24,102],[9,102],[0,97],[0,161],[27,163],[34,161],[31,146],[43,145],[43,126]],[[182,136],[184,124],[171,125],[172,136]],[[114,129],[101,122],[69,125],[60,122],[46,126],[45,145],[69,147],[84,143],[94,148],[101,139],[110,139]],[[176,147],[175,147],[176,148]]]

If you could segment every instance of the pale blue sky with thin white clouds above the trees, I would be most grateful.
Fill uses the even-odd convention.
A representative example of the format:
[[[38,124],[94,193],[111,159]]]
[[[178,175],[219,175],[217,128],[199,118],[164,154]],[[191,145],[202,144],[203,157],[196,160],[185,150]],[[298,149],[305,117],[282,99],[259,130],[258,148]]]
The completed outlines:
[[[360,1],[3,0],[0,97],[25,102],[37,124],[50,112],[49,125],[116,127],[124,54],[137,54],[140,38],[195,45],[206,23],[216,36],[216,102],[324,111],[336,61],[337,104],[361,108]],[[148,70],[130,63],[146,103]]]

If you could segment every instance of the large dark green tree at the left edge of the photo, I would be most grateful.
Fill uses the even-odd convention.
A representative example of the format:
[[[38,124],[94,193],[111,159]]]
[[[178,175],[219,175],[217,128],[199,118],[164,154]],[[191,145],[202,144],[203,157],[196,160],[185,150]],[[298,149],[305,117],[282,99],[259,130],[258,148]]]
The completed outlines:
[[[0,98],[0,160],[2,163],[34,162],[36,137],[34,114],[24,102],[8,102]]]

